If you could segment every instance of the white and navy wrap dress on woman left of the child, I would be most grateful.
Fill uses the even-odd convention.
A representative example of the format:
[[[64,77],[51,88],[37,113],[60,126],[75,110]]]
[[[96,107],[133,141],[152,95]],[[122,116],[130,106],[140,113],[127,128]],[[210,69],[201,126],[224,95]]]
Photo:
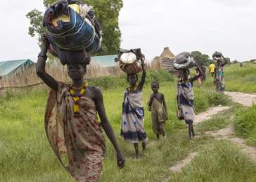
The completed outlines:
[[[147,135],[144,129],[144,109],[142,104],[142,91],[124,91],[122,104],[122,128],[121,136],[125,141],[136,144],[146,141]]]

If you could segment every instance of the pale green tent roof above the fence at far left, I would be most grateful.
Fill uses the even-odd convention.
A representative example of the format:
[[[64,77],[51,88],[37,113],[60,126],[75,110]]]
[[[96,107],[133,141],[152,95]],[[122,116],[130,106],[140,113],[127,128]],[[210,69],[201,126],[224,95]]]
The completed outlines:
[[[11,76],[13,73],[32,65],[34,65],[34,62],[32,62],[30,59],[0,62],[0,77]]]

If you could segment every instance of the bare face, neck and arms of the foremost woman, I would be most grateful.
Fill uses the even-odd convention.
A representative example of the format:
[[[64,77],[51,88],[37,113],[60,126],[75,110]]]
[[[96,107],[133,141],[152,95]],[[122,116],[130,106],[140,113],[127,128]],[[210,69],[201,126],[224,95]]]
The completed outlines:
[[[40,55],[46,55],[48,48],[49,48],[49,42],[46,39],[44,39]],[[46,85],[51,87],[52,90],[58,90],[58,83],[52,76],[46,73],[45,64],[46,64],[45,57],[39,56],[37,60],[37,75],[44,81],[44,83],[46,83]],[[72,79],[73,86],[81,87],[84,83],[84,73],[86,73],[86,70],[87,70],[86,65],[68,64],[67,67],[68,67],[68,75]],[[75,94],[78,95],[79,90],[76,90]],[[122,155],[120,147],[117,144],[117,141],[115,139],[115,134],[106,116],[105,106],[103,103],[103,95],[101,93],[101,90],[98,87],[87,87],[87,92],[85,92],[83,96],[94,101],[96,105],[96,111],[98,112],[98,116],[101,119],[101,125],[103,127],[103,130],[105,131],[105,134],[107,134],[108,138],[110,139],[117,153],[117,166],[120,168],[123,168],[124,156]]]

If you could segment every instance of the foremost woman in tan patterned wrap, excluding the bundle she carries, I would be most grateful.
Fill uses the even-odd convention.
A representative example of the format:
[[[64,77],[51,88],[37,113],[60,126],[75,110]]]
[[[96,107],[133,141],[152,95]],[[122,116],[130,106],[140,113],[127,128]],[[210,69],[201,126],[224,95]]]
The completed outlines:
[[[45,71],[48,49],[49,41],[44,37],[37,74],[51,88],[45,114],[46,135],[58,160],[74,179],[99,181],[105,156],[102,128],[115,147],[120,168],[124,167],[124,157],[105,114],[101,90],[84,82],[90,55],[84,50],[60,52],[72,79],[72,84],[65,84]]]

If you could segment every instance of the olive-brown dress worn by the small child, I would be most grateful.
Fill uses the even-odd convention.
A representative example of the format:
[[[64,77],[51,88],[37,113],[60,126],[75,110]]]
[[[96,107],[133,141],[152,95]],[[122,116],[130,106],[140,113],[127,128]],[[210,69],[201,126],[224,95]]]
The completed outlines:
[[[154,98],[151,104],[151,120],[154,134],[165,133],[166,112],[163,103]]]

